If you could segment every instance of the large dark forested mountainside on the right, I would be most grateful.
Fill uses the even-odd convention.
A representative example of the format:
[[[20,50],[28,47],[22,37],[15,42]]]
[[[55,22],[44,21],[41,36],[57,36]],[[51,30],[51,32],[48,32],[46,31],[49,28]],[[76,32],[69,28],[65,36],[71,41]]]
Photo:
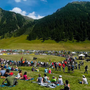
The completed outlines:
[[[40,19],[28,40],[90,40],[90,2],[73,2]]]

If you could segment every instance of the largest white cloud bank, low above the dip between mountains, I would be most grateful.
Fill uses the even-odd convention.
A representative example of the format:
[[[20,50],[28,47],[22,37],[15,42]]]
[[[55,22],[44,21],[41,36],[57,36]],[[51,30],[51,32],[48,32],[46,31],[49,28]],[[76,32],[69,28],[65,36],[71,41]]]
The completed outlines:
[[[28,17],[33,18],[33,19],[40,19],[40,18],[43,18],[44,17],[44,16],[37,15],[35,12],[32,12],[32,13],[27,14],[26,11],[23,11],[23,10],[21,10],[18,7],[15,7],[15,8],[13,8],[10,11],[15,12],[15,13],[19,13],[19,14],[21,14],[23,16],[28,16]]]

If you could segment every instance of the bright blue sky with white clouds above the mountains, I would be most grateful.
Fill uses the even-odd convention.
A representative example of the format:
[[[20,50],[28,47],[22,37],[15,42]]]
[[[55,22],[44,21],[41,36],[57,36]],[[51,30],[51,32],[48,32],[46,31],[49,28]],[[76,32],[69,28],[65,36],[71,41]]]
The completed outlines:
[[[0,0],[0,8],[33,19],[40,19],[73,1],[90,0]]]

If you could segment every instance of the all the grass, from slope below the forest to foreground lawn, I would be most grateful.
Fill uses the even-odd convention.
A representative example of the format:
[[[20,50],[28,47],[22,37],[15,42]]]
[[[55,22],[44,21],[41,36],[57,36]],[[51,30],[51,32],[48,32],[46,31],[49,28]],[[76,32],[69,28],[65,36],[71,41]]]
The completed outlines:
[[[69,50],[69,51],[90,51],[90,41],[85,42],[59,42],[56,43],[53,40],[46,40],[45,42],[42,42],[42,40],[33,40],[28,41],[26,40],[26,35],[22,35],[20,37],[12,37],[7,39],[0,40],[0,49],[29,49],[29,50]],[[11,60],[20,60],[20,58],[23,56],[23,60],[27,59],[28,61],[33,60],[33,57],[37,57],[37,61],[42,62],[48,62],[49,59],[51,59],[51,62],[58,62],[63,61],[65,58],[58,57],[58,56],[52,56],[52,55],[1,55],[0,58],[3,59],[11,59]],[[80,60],[77,60],[79,63]],[[52,74],[47,74],[49,76],[50,80],[52,76],[56,76],[58,78],[59,75],[62,75],[63,81],[69,80],[70,88],[71,90],[90,90],[90,62],[84,61],[84,65],[81,66],[81,69],[75,69],[74,73],[67,72],[67,68],[65,69],[65,73],[61,71],[55,71],[52,69]],[[88,74],[84,74],[84,67],[85,65],[88,65]],[[39,72],[32,72],[31,67],[22,66],[19,67],[23,71],[28,72],[28,76],[34,77],[34,81],[36,81],[38,74],[44,75],[44,68],[39,67]],[[17,75],[17,71],[14,71],[15,75]],[[88,79],[89,84],[88,85],[81,85],[78,83],[78,79],[82,79],[82,75],[85,75]],[[0,84],[2,83],[4,79],[0,79]],[[60,90],[63,89],[64,86],[57,86],[53,90]],[[46,88],[39,86],[36,83],[31,83],[31,81],[23,81],[18,80],[18,85],[15,87],[0,87],[0,90],[52,90],[51,88]]]

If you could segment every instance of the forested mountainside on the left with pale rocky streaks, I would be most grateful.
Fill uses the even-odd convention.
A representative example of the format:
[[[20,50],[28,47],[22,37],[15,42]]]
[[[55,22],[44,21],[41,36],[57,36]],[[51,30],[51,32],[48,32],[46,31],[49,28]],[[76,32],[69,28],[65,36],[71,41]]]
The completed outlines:
[[[0,8],[0,36],[1,38],[20,36],[32,26],[33,19]]]

